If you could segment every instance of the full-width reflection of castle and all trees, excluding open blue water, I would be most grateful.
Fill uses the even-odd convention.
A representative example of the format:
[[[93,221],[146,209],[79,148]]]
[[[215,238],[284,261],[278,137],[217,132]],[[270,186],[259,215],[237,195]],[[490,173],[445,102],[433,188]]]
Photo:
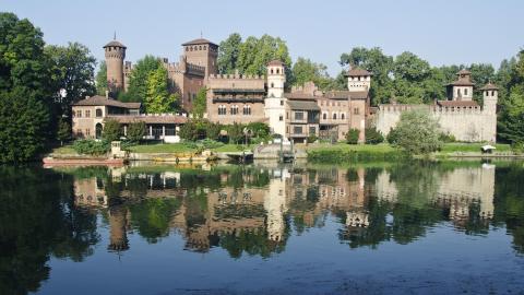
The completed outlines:
[[[148,244],[179,236],[187,250],[240,259],[275,256],[289,237],[332,221],[341,243],[371,249],[410,244],[439,225],[479,236],[505,227],[524,253],[522,164],[0,169],[5,294],[37,291],[52,276],[49,256],[83,261],[100,240],[121,255],[135,234]]]

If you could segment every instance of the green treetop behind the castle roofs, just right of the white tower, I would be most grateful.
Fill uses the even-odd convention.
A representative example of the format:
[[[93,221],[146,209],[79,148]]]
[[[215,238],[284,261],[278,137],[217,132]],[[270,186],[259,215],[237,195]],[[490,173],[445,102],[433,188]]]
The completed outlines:
[[[312,62],[310,59],[299,57],[293,64],[291,85],[303,85],[312,81],[319,88],[326,90],[331,85],[331,79],[327,74],[327,67],[322,63]]]

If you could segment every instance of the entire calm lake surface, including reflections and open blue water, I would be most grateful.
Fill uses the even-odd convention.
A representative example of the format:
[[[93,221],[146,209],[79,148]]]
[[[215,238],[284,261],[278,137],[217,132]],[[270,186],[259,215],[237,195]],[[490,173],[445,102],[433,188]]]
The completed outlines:
[[[0,294],[524,292],[522,163],[0,173]]]

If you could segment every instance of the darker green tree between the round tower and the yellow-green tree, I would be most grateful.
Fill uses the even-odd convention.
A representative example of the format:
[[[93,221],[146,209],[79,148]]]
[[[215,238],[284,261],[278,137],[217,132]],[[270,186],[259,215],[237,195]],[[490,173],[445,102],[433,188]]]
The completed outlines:
[[[148,78],[159,68],[162,68],[160,61],[154,56],[145,56],[139,60],[131,71],[128,92],[119,95],[119,99],[122,102],[145,102],[148,91]]]

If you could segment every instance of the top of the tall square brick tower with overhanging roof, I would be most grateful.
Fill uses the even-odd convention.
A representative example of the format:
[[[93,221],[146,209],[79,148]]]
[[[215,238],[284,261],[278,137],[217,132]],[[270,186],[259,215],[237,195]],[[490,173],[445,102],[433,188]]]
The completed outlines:
[[[205,76],[216,74],[218,72],[218,64],[216,59],[218,57],[218,45],[204,39],[194,39],[182,44],[183,56],[188,63],[205,67]]]

